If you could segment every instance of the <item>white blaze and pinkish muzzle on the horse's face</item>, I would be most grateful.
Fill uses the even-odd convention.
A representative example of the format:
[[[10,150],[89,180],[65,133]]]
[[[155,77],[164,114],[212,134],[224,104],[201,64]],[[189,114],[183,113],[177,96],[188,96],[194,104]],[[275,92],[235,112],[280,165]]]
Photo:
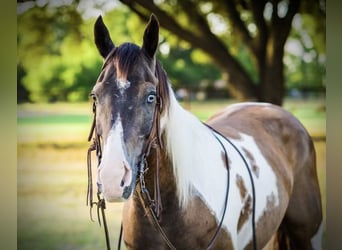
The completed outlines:
[[[133,171],[132,165],[126,160],[122,137],[122,124],[118,119],[104,144],[97,175],[100,190],[108,202],[128,199],[134,189],[136,171]]]

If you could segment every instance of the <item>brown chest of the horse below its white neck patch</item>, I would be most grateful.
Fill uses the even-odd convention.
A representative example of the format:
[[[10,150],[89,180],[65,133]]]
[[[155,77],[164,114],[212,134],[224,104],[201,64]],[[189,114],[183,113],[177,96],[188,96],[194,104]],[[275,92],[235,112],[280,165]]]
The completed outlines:
[[[145,216],[140,204],[131,200],[124,207],[124,241],[127,249],[169,249],[160,233]],[[177,249],[206,249],[217,228],[217,220],[199,197],[186,210],[164,203],[160,225]],[[214,249],[233,249],[230,236],[221,230]]]

